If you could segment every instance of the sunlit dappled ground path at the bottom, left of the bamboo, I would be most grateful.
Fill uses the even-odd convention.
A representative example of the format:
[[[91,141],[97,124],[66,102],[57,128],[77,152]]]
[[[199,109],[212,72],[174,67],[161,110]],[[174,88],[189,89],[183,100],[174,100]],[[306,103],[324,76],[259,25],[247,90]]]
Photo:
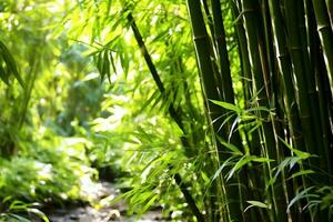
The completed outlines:
[[[71,206],[69,209],[52,210],[48,214],[50,222],[167,222],[162,218],[161,211],[149,211],[140,219],[138,216],[128,216],[128,208],[124,202],[118,202],[113,205],[103,203],[105,196],[113,196],[120,194],[120,191],[114,184],[100,181],[94,184],[93,189],[87,190],[87,195],[93,196],[92,202],[97,203],[98,208],[91,204]]]

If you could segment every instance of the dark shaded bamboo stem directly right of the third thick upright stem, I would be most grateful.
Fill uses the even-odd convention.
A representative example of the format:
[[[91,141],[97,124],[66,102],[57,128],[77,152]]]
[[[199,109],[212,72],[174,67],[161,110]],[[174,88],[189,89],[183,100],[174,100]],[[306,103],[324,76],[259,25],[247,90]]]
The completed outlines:
[[[266,88],[268,88],[268,95],[271,98],[271,104],[274,104],[274,109],[275,109],[275,117],[272,118],[273,121],[273,131],[275,133],[275,140],[276,137],[279,138],[284,138],[284,124],[282,123],[285,114],[283,113],[282,107],[283,107],[283,101],[280,99],[283,97],[283,89],[281,87],[281,79],[280,79],[280,74],[279,71],[276,69],[276,60],[275,60],[275,52],[274,52],[274,46],[273,46],[273,39],[274,39],[274,34],[273,34],[273,28],[272,28],[272,18],[270,14],[270,10],[269,10],[269,1],[268,0],[261,0],[260,1],[261,4],[261,11],[262,11],[262,23],[263,23],[263,36],[264,38],[262,38],[264,41],[264,44],[261,43],[263,47],[262,48],[262,63],[266,64],[264,65],[266,69],[269,68],[269,70],[264,70],[264,72],[266,72],[266,77],[270,77],[270,79],[266,81]],[[270,95],[271,93],[271,95]],[[286,153],[287,155],[289,153],[289,149],[285,148],[285,145],[278,140],[276,141],[276,160],[278,163],[282,162],[284,159],[284,153]],[[274,193],[276,193],[276,204],[278,210],[279,210],[279,215],[286,215],[287,220],[291,220],[292,218],[292,213],[295,214],[295,212],[285,212],[285,206],[289,203],[289,194],[291,194],[292,196],[294,196],[294,192],[292,189],[292,182],[286,181],[286,175],[285,175],[285,171],[281,172],[281,175],[279,175],[278,180],[280,183],[280,185],[275,185],[274,188]],[[291,185],[290,185],[291,183]],[[284,218],[285,219],[285,218]],[[279,220],[281,220],[281,218],[279,218]]]

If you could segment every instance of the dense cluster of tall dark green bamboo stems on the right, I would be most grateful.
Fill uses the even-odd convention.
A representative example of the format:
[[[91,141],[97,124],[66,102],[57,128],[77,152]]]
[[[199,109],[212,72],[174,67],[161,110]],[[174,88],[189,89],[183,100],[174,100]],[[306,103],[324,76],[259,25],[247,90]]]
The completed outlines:
[[[233,107],[239,98],[232,89],[223,4],[233,14],[244,110]],[[230,198],[224,211],[229,213],[219,220],[327,221],[329,205],[313,204],[311,196],[316,188],[332,183],[332,11],[325,1],[223,4],[188,0],[219,162],[233,159],[220,139],[229,139],[243,154],[230,161],[230,168],[242,168],[234,181],[221,175],[224,189],[219,194]],[[233,112],[236,118],[229,119]],[[244,112],[258,117],[260,127],[248,127]],[[232,181],[238,191],[231,188]],[[261,209],[244,212],[245,202]]]

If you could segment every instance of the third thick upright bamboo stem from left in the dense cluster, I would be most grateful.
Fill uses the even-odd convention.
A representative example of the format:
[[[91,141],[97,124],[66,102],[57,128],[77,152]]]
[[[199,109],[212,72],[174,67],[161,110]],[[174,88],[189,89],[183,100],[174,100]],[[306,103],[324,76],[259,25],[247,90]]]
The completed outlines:
[[[259,23],[258,20],[259,14],[256,13],[259,4],[256,1],[244,0],[242,1],[242,7],[243,7],[244,24],[248,33],[248,42],[249,42],[248,44],[250,51],[249,56],[251,59],[252,73],[255,83],[254,89],[258,94],[258,103],[261,107],[270,108],[270,101],[268,99],[269,90],[266,89],[268,81],[269,81],[268,73],[266,73],[268,70],[265,70],[266,58],[264,58],[265,57],[264,47],[262,46],[263,39],[260,29],[261,24]],[[263,112],[259,112],[259,115],[266,120],[263,121],[262,124],[263,140],[265,144],[265,154],[271,159],[280,160],[280,151],[275,138],[276,129],[274,129],[271,122],[271,115]],[[272,178],[270,164],[268,164],[266,176]],[[284,192],[282,189],[278,186],[276,190],[274,188],[271,188],[271,194],[269,194],[268,196],[269,201],[273,205],[271,220],[274,221],[276,221],[278,219],[286,220],[285,208],[284,208],[286,203],[283,196],[284,196]]]

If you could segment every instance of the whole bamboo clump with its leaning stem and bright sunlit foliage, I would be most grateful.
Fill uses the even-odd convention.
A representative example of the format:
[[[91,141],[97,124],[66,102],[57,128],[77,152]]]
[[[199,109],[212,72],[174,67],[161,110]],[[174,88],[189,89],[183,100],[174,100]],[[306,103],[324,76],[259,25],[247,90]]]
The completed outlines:
[[[120,196],[134,211],[333,221],[331,0],[73,4],[52,34],[90,49],[110,94],[130,98],[113,143],[137,160]],[[0,52],[0,78],[11,72],[26,89],[2,41]]]

